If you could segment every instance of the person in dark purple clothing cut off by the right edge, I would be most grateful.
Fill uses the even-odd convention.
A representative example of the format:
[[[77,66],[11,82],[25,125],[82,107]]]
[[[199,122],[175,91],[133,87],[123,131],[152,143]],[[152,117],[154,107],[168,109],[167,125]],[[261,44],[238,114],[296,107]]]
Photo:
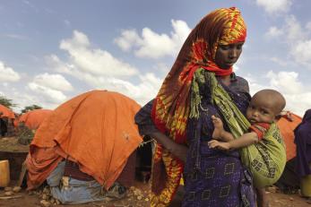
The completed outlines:
[[[311,109],[294,130],[297,146],[296,173],[300,177],[301,194],[311,203]]]

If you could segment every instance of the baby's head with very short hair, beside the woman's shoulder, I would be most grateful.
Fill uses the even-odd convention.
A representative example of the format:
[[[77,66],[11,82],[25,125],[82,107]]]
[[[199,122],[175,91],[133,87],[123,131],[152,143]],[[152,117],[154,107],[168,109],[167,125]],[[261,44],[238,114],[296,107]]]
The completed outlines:
[[[258,91],[249,103],[246,117],[252,124],[272,123],[285,108],[285,104],[284,97],[278,91],[270,89]]]

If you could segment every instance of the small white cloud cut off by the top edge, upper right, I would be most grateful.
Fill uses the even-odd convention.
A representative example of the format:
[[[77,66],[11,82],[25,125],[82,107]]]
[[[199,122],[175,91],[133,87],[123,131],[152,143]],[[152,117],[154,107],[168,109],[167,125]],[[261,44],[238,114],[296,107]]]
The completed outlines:
[[[256,4],[263,6],[267,13],[283,13],[289,11],[292,0],[256,0]]]

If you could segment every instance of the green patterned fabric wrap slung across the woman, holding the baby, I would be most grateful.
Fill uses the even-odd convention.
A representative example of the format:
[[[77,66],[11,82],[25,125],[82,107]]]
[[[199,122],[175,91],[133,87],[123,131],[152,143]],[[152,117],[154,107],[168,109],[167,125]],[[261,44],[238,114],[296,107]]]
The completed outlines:
[[[250,123],[229,97],[214,73],[207,73],[207,82],[211,84],[212,102],[220,109],[231,134],[235,138],[248,131]],[[243,164],[248,168],[256,187],[274,184],[280,177],[286,164],[285,144],[279,128],[272,123],[263,135],[263,140],[240,150]]]

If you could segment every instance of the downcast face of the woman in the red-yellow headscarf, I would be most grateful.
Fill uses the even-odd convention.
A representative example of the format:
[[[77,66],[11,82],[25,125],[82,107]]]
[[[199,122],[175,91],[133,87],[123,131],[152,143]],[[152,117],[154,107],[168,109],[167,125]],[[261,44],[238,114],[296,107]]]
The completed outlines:
[[[215,64],[221,69],[229,69],[238,61],[244,42],[219,45],[216,51]]]

